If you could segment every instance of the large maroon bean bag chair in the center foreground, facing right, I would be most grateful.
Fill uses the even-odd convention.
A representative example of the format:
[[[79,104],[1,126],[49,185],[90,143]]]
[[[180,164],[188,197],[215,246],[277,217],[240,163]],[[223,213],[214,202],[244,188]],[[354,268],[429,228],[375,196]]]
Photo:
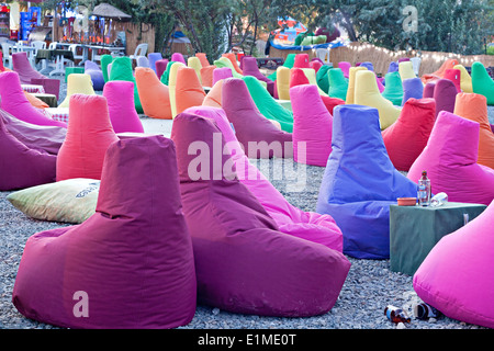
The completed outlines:
[[[191,145],[200,143],[206,150],[214,150],[213,144],[225,147],[214,121],[182,112],[173,120],[171,139],[194,250],[198,302],[259,316],[304,317],[330,310],[350,268],[347,258],[281,233],[237,179],[229,155],[215,158],[207,152],[203,161],[210,167],[195,178],[190,165],[198,156],[191,155]]]

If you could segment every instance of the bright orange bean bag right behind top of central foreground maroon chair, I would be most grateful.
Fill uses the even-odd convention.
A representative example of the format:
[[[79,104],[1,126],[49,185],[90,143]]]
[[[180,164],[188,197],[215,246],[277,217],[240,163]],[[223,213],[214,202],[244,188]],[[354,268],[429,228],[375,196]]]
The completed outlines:
[[[180,67],[175,87],[177,114],[192,106],[201,106],[205,95],[195,70],[191,67]]]

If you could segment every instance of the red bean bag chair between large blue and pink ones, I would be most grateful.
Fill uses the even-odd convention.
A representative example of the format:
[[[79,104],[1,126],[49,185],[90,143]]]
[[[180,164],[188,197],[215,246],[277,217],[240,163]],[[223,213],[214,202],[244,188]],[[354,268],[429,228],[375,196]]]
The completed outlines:
[[[388,156],[398,171],[409,170],[426,147],[435,122],[435,100],[411,98],[396,122],[382,132]]]

